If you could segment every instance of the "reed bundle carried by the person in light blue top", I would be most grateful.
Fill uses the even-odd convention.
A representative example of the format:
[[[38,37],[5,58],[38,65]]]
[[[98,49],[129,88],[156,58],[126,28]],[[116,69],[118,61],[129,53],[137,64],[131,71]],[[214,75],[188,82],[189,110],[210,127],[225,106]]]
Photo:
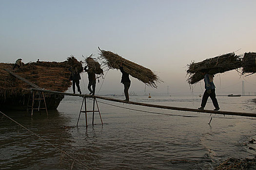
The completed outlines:
[[[223,73],[233,69],[241,68],[242,61],[240,55],[235,55],[234,52],[220,55],[214,58],[206,59],[202,62],[192,62],[188,65],[187,79],[188,83],[193,85],[204,78],[201,74],[202,70],[207,70],[207,73],[215,75],[217,73]]]

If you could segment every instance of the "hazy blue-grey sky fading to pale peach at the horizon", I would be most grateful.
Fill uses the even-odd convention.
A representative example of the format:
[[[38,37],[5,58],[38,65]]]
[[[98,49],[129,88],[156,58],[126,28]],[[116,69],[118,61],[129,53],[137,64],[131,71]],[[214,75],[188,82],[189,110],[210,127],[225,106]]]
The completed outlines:
[[[187,65],[229,52],[256,52],[256,0],[0,0],[0,62],[78,60],[112,51],[154,71],[158,88],[131,78],[137,94],[203,93],[187,83]],[[87,74],[81,75],[88,93]],[[122,94],[119,70],[97,83],[98,94]],[[256,92],[256,74],[217,74],[216,93]],[[146,90],[145,90],[146,89]]]

